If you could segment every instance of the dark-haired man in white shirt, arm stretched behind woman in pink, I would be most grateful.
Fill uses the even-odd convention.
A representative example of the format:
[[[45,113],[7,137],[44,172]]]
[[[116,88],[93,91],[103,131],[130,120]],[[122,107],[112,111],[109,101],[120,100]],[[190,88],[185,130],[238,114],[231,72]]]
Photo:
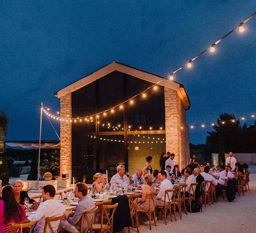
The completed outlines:
[[[55,188],[53,185],[45,185],[42,189],[43,202],[40,203],[38,209],[32,212],[25,220],[16,224],[30,223],[37,221],[34,228],[34,233],[44,232],[45,218],[48,217],[59,217],[65,213],[64,206],[57,200],[54,200]],[[51,226],[54,231],[57,231],[60,220],[51,222]],[[7,230],[7,228],[5,229]],[[47,225],[46,233],[51,233],[49,226]]]

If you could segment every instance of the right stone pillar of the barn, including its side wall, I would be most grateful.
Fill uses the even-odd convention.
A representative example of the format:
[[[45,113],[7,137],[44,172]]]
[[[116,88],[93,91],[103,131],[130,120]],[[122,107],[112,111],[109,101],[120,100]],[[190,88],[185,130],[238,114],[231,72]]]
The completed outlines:
[[[185,107],[175,90],[166,87],[164,90],[166,152],[175,154],[174,162],[179,164],[182,169],[189,161],[189,138]]]

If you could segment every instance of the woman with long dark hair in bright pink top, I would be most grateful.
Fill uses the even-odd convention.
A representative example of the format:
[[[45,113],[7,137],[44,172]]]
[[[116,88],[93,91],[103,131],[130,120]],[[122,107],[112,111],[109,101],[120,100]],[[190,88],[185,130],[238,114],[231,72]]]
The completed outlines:
[[[17,202],[13,187],[5,186],[0,200],[0,232],[4,232],[4,228],[9,226],[8,223],[18,223],[24,219],[26,219],[24,206]]]

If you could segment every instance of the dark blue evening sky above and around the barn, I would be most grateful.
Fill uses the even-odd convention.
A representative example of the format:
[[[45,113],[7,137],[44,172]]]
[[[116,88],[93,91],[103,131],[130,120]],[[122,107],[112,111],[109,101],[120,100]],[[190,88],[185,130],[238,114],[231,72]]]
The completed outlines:
[[[39,139],[40,103],[59,110],[54,92],[113,60],[165,77],[256,11],[255,0],[0,3],[6,140]],[[244,26],[176,73],[191,101],[188,124],[256,112],[256,16]],[[190,142],[204,143],[207,130],[191,129]],[[42,139],[57,139],[46,116]]]

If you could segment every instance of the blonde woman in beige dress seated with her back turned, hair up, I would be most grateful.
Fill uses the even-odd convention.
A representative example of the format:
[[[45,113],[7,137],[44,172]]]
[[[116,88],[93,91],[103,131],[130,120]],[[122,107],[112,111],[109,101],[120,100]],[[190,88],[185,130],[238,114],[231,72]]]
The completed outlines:
[[[155,208],[156,196],[154,195],[154,193],[156,192],[156,189],[152,186],[152,178],[150,175],[144,176],[144,185],[145,186],[142,191],[142,197],[138,199],[137,211],[149,209],[149,200],[151,197],[151,193],[153,193],[153,200],[151,200],[150,208],[151,210],[154,210]]]

